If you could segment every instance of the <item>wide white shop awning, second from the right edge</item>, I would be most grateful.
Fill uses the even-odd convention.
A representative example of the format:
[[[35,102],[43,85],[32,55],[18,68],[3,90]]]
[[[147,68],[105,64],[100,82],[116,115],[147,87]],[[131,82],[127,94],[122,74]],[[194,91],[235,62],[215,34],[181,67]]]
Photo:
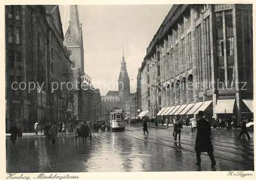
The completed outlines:
[[[215,107],[214,113],[217,114],[232,114],[234,109],[234,101],[236,99],[219,99]]]

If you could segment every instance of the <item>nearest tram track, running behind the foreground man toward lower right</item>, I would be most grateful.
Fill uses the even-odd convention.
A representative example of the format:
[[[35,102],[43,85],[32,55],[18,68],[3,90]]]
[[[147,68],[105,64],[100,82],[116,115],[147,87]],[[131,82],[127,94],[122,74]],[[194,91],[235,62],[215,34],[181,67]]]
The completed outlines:
[[[174,149],[179,149],[179,150],[184,150],[184,151],[187,151],[187,152],[196,153],[196,152],[193,151],[193,150],[180,148],[180,147],[178,147],[178,146],[172,146],[172,145],[167,145],[167,144],[158,143],[158,142],[154,142],[154,141],[148,141],[148,140],[145,140],[145,139],[140,139],[140,138],[136,138],[136,137],[128,136],[128,135],[125,135],[125,136],[128,137],[128,138],[132,138],[132,139],[139,140],[139,141],[144,141],[144,142],[148,142],[148,143],[154,143],[154,144],[161,145],[161,146],[165,146],[165,147],[171,147],[171,148],[174,148]],[[204,155],[204,156],[208,156],[206,153],[201,153],[201,154]],[[229,162],[233,162],[233,163],[243,164],[243,165],[248,164],[247,162],[234,161],[234,160],[222,158],[222,157],[219,157],[219,156],[215,156],[215,158],[216,158],[216,159],[225,160],[225,161],[229,161]]]

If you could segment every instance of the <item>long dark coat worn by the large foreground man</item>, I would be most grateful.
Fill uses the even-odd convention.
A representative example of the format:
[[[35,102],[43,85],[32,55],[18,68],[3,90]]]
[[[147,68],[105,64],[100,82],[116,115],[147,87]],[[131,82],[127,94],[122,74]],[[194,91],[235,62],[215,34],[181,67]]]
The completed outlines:
[[[213,151],[214,147],[211,143],[211,129],[210,123],[201,118],[197,122],[197,138],[196,138],[196,146],[195,151],[197,152],[208,152]]]

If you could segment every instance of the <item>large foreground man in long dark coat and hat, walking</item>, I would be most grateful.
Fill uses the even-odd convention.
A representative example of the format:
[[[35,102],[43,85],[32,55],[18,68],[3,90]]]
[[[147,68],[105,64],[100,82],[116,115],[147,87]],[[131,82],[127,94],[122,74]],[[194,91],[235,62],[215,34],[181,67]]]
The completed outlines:
[[[216,165],[216,161],[214,158],[214,147],[211,143],[211,129],[210,123],[204,119],[204,112],[198,112],[198,121],[197,121],[197,138],[196,138],[196,146],[195,151],[197,152],[197,166],[201,166],[201,152],[207,152],[210,160],[211,167]]]

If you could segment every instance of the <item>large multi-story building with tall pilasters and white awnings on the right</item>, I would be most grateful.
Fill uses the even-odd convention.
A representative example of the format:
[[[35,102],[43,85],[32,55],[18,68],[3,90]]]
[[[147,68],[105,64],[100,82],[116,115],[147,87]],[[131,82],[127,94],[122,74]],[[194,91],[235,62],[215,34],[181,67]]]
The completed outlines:
[[[252,113],[252,60],[252,5],[173,5],[140,68],[142,111],[240,120]]]

